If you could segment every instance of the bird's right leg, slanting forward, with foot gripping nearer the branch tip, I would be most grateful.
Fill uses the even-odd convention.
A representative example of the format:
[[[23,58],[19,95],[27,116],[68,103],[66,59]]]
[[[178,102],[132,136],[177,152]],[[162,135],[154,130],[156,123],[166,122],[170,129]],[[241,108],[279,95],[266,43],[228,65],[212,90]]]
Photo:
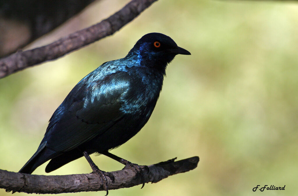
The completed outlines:
[[[109,153],[108,151],[100,152],[100,154],[106,155],[106,156],[118,161],[119,163],[122,163],[123,165],[125,165],[125,167],[123,169],[132,169],[132,170],[134,170],[134,172],[136,172],[136,178],[138,177],[138,175],[140,175],[140,177],[142,179],[143,185],[142,185],[141,189],[144,187],[145,178],[144,178],[143,169],[146,169],[147,173],[148,173],[149,172],[148,166],[146,166],[146,165],[139,166],[138,164],[131,163],[130,161],[127,161],[123,158],[120,158],[116,155],[113,155],[112,153]]]

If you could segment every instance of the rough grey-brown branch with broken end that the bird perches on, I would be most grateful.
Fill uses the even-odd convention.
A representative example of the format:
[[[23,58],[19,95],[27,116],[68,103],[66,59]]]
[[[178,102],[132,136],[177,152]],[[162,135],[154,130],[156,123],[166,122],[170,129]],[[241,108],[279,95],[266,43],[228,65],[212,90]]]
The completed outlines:
[[[187,172],[195,169],[199,157],[191,157],[174,162],[176,158],[158,164],[149,165],[149,172],[143,170],[145,182],[156,183],[170,175]],[[142,184],[139,176],[131,169],[122,169],[111,172],[115,177],[112,182],[108,179],[109,189],[128,188]],[[97,174],[73,175],[31,175],[8,172],[0,169],[0,188],[14,192],[56,194],[83,191],[102,191],[103,185]]]

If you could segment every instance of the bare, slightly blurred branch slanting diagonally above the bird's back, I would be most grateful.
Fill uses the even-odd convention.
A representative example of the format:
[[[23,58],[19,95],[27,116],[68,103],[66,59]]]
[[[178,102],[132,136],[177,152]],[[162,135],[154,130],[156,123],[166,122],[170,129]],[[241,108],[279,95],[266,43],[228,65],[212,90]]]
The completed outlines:
[[[19,51],[0,60],[0,78],[16,71],[54,60],[121,29],[157,0],[132,0],[109,18],[58,41],[27,51]]]

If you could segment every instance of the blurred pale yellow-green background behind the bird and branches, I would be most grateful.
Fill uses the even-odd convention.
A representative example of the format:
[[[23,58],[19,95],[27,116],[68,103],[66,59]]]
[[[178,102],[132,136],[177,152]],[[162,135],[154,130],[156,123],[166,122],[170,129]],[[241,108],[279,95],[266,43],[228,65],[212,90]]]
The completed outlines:
[[[127,2],[91,4],[30,48],[95,24]],[[109,195],[297,195],[297,24],[296,1],[159,0],[114,35],[0,80],[0,168],[17,172],[29,160],[81,78],[124,57],[142,35],[161,32],[192,55],[170,63],[149,122],[111,152],[137,164],[196,155],[200,162],[190,172]],[[103,155],[91,158],[105,171],[123,168]],[[33,174],[45,174],[45,166]],[[80,158],[50,175],[89,172]],[[286,186],[252,192],[258,184]]]

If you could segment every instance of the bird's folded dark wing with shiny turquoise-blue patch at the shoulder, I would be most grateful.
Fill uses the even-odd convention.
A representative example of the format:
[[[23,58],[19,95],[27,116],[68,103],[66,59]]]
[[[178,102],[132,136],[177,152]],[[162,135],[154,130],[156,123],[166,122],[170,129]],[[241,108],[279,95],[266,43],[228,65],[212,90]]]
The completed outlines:
[[[95,81],[88,76],[84,79],[72,89],[50,119],[43,141],[51,150],[72,150],[103,133],[124,116],[119,109],[123,104],[122,97],[128,93],[128,73],[118,71]]]

